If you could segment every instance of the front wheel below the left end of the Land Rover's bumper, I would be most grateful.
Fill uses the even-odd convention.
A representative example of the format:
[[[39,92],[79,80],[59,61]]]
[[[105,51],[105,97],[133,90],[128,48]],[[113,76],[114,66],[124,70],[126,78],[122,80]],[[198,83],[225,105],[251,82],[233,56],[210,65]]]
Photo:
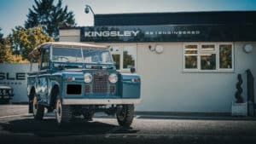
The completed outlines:
[[[73,118],[73,113],[70,106],[62,105],[60,96],[56,98],[55,118],[58,125],[67,124]]]

